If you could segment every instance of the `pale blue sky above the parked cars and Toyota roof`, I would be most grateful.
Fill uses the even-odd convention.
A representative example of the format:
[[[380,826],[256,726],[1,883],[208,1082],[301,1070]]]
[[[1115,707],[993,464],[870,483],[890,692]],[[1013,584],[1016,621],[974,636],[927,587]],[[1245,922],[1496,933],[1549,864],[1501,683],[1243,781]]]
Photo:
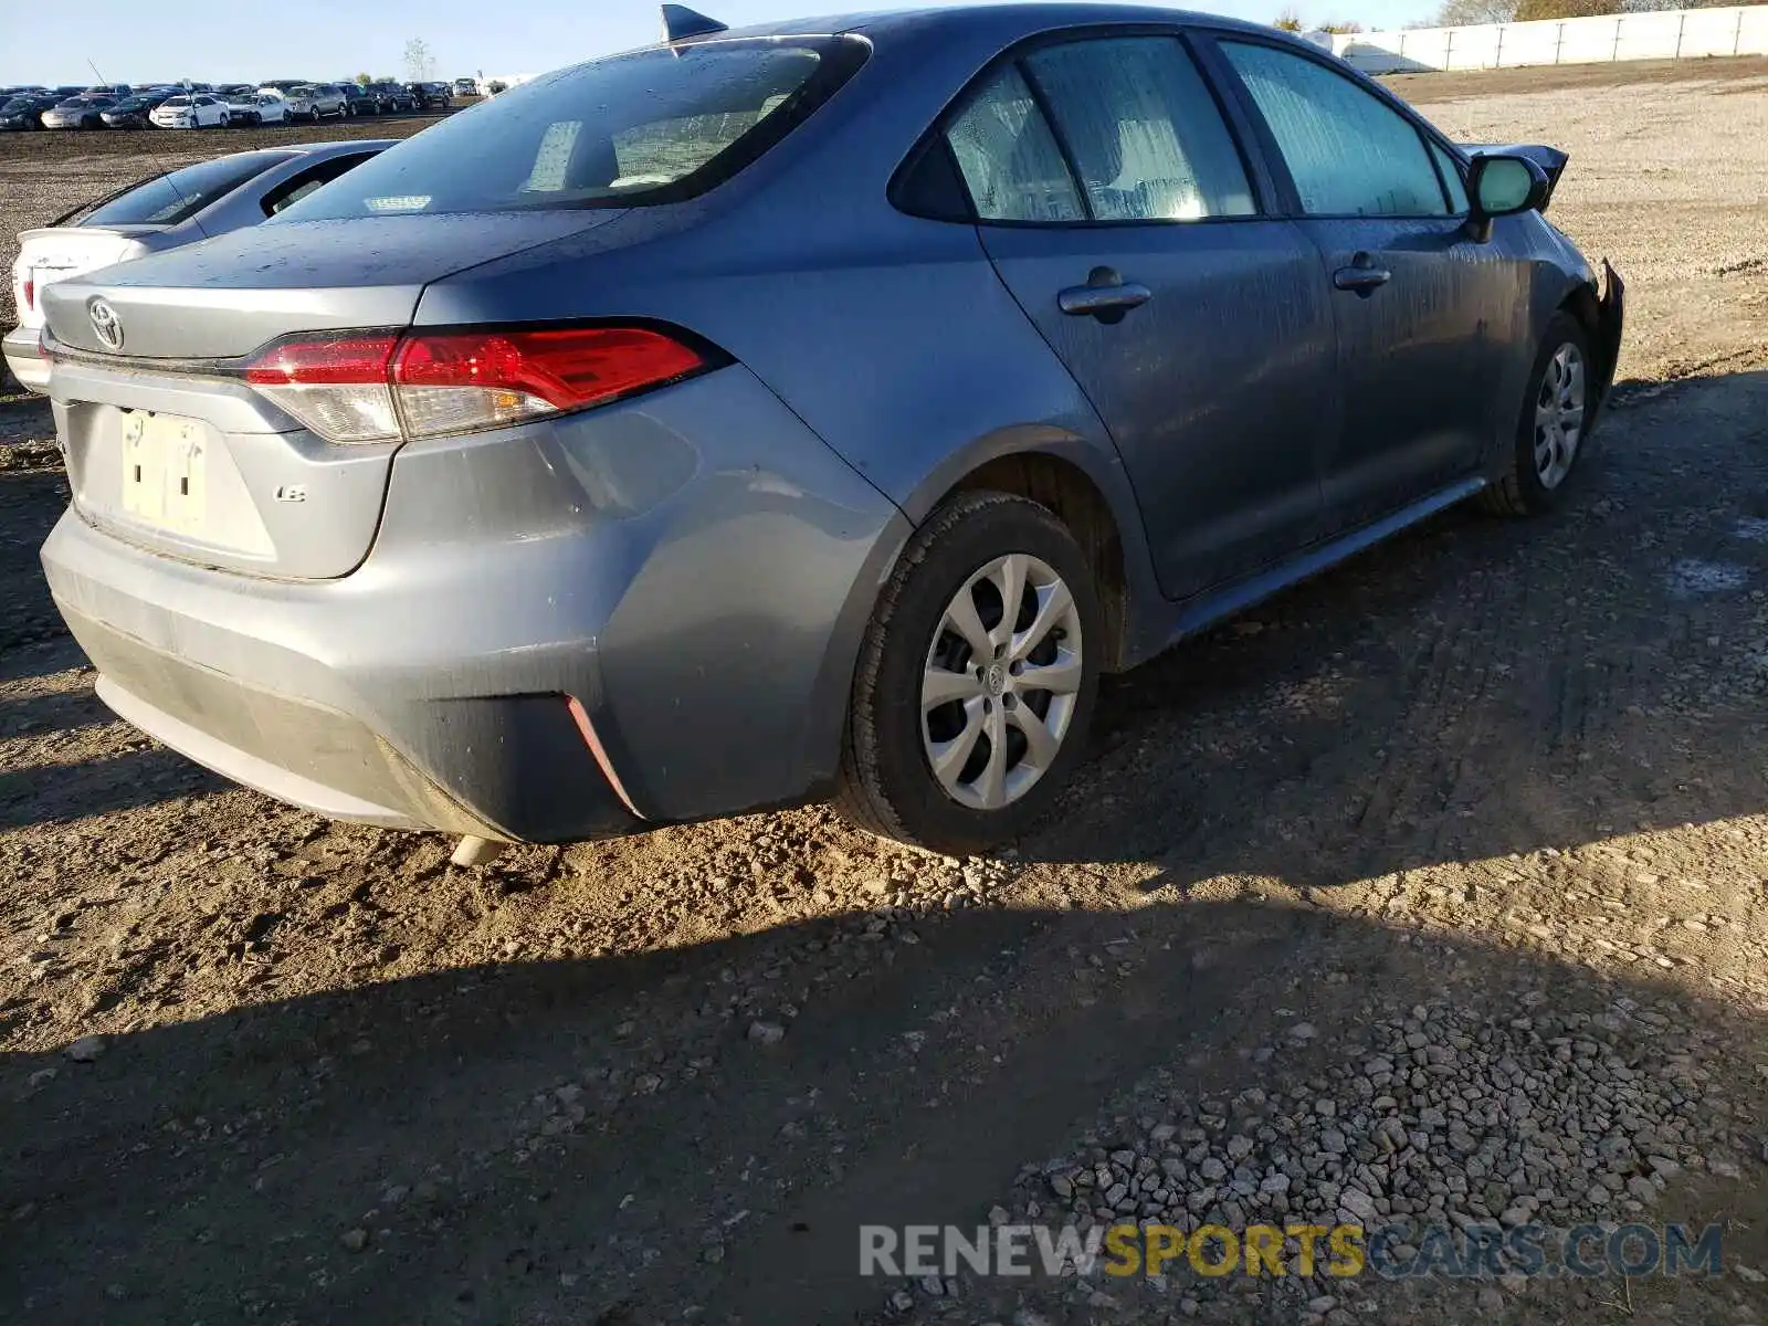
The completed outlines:
[[[739,27],[813,12],[919,7],[951,0],[704,0]],[[1186,0],[1172,0],[1176,5]],[[1269,21],[1287,0],[1188,0]],[[1400,27],[1436,0],[1294,0],[1307,23]],[[405,42],[421,37],[435,78],[536,74],[658,39],[658,5],[640,0],[81,0],[44,7],[0,0],[0,85],[193,78],[405,78]],[[90,62],[90,64],[88,64]]]

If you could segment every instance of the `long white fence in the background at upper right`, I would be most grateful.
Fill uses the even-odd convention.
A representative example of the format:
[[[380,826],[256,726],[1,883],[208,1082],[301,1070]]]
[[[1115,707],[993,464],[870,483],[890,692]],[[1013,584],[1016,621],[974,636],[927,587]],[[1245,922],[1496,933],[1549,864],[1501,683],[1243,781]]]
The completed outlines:
[[[1367,74],[1768,55],[1768,5],[1356,32],[1331,48]]]

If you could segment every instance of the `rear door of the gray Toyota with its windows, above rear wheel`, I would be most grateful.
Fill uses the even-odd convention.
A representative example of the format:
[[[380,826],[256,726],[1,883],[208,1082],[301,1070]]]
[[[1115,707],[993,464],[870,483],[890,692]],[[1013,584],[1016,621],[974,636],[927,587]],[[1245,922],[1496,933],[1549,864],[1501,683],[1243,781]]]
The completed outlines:
[[[1110,430],[1162,589],[1185,598],[1317,537],[1331,306],[1179,34],[1119,34],[1020,53],[948,141],[983,248]]]

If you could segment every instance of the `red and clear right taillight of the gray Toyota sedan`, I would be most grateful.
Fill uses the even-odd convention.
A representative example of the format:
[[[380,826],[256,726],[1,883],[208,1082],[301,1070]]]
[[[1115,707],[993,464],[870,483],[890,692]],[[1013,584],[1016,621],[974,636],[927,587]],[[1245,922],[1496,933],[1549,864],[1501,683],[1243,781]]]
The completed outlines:
[[[707,366],[649,327],[502,327],[290,338],[246,382],[329,442],[387,442],[605,405]]]

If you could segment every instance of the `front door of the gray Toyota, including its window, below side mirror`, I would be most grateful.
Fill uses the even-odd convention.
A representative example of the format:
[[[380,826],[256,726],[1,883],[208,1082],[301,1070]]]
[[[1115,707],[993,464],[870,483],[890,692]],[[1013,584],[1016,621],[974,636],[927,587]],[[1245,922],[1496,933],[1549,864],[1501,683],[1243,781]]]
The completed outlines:
[[[1326,461],[1335,527],[1478,470],[1520,292],[1469,239],[1457,166],[1335,60],[1220,34],[1248,115],[1331,281],[1344,419]]]

